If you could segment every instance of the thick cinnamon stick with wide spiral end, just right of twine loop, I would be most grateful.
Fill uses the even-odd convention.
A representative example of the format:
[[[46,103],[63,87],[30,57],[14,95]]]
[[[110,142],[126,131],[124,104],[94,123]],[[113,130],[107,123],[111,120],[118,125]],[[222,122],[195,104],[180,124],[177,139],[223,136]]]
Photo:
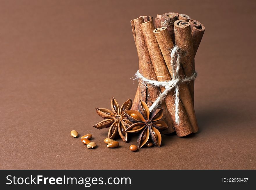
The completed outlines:
[[[184,20],[174,22],[175,45],[181,49],[181,62],[185,76],[190,77],[195,71],[194,49],[190,24]],[[194,80],[189,83],[189,91],[194,102]]]

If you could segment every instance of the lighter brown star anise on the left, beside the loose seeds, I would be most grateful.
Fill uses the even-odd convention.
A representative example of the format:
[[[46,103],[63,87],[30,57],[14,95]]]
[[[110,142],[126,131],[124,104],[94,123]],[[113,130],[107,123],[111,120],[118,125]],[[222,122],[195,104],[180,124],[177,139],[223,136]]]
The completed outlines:
[[[104,120],[100,121],[93,127],[97,129],[110,127],[108,138],[114,139],[119,134],[122,140],[127,142],[128,134],[125,132],[125,130],[132,123],[127,119],[124,111],[131,109],[131,106],[131,98],[123,103],[123,105],[120,107],[116,99],[112,96],[112,111],[106,108],[96,108],[97,114],[104,118]]]

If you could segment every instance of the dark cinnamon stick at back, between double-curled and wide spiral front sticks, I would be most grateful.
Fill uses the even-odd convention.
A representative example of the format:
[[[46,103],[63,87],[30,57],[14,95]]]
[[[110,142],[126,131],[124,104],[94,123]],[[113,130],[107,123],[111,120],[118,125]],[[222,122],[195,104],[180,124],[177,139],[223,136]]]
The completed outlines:
[[[166,26],[169,31],[171,38],[174,42],[174,28],[173,23],[178,19],[179,13],[177,12],[168,12],[161,15],[161,22],[159,27]]]

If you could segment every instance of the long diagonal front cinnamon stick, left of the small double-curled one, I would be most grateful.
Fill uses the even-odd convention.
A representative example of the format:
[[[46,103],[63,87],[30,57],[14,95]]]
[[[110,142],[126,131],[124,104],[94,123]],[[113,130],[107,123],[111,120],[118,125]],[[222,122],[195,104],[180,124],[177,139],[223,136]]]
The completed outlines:
[[[166,81],[170,80],[170,74],[166,67],[166,63],[163,59],[163,55],[157,43],[157,40],[154,36],[154,23],[153,21],[148,21],[141,24],[141,29],[144,35],[144,39],[147,45],[147,49],[154,67],[154,71],[157,75],[158,81]],[[164,87],[160,88],[163,92],[165,90]],[[174,99],[174,92],[171,91],[165,97],[165,103],[167,105],[168,111],[170,112],[170,117],[173,121],[173,126],[175,131],[179,137],[189,135],[193,132],[191,124],[189,122],[188,116],[182,104],[179,104],[179,118],[180,123],[179,125],[175,122],[175,99]]]

